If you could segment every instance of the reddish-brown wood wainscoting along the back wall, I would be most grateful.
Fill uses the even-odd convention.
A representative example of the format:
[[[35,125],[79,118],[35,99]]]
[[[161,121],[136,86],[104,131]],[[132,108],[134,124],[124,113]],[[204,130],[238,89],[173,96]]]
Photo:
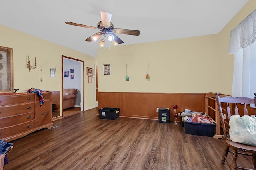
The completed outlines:
[[[156,108],[169,108],[171,121],[174,121],[174,104],[178,105],[176,112],[190,109],[204,113],[205,94],[98,92],[98,109],[115,107],[120,108],[121,117],[158,119]]]

